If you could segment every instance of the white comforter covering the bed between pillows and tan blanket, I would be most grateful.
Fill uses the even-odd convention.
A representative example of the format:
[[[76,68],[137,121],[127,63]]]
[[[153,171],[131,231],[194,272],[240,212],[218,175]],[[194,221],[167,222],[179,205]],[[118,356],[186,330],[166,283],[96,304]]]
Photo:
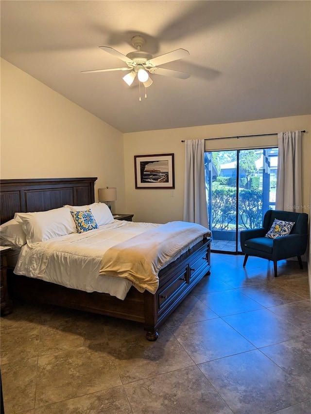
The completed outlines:
[[[14,273],[123,300],[132,282],[100,275],[104,253],[134,236],[162,226],[115,220],[86,233],[72,233],[21,249]],[[194,240],[187,248],[196,243]]]

